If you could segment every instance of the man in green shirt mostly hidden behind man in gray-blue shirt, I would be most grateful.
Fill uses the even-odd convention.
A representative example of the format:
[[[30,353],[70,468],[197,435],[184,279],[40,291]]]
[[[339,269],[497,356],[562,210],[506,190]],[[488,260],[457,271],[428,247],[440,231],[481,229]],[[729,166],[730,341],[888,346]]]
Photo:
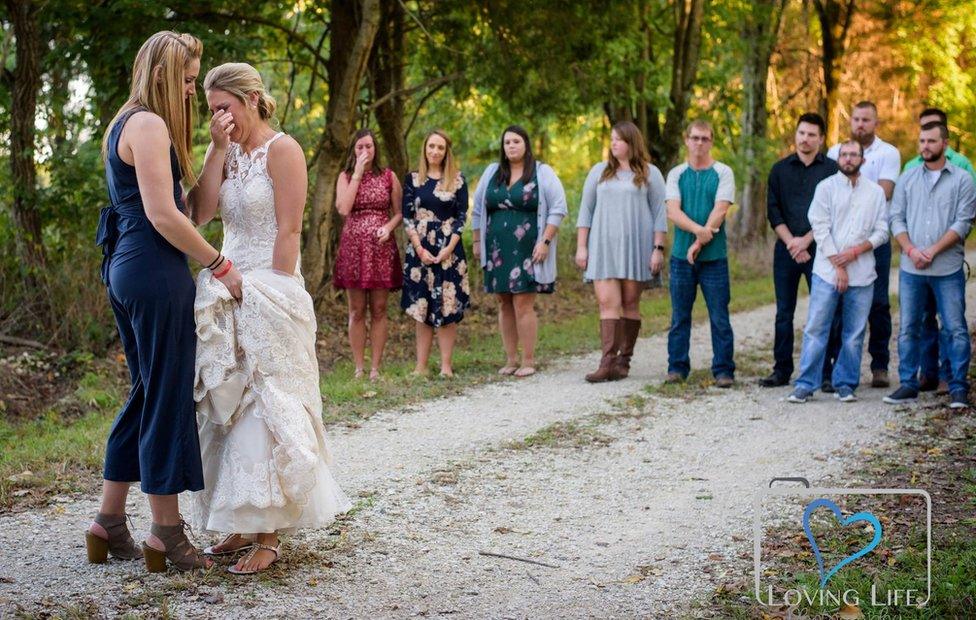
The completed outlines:
[[[918,115],[918,124],[922,126],[928,123],[939,123],[948,127],[949,117],[939,108],[925,108]],[[976,181],[976,170],[973,170],[973,165],[965,155],[954,151],[952,147],[946,147],[946,159],[950,164],[971,174],[973,180]],[[908,160],[902,172],[907,172],[921,165],[922,156],[918,155]],[[949,359],[939,352],[939,323],[936,320],[935,297],[932,295],[928,296],[925,312],[922,314],[922,333],[919,346],[919,391],[931,392],[934,390],[938,394],[947,393],[949,391]]]

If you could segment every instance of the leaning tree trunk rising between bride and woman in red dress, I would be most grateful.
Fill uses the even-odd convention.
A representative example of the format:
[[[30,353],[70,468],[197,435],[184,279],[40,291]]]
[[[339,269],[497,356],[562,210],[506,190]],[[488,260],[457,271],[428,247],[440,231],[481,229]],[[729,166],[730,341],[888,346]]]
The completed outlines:
[[[356,129],[356,102],[380,26],[380,0],[333,0],[329,41],[329,102],[302,256],[305,281],[316,302],[325,297],[335,260],[340,221],[335,186]]]

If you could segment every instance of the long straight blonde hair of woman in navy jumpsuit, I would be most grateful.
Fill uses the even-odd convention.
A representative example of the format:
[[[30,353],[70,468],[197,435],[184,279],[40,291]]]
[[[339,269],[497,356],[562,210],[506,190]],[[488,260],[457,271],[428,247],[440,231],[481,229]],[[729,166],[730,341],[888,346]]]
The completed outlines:
[[[176,151],[183,179],[196,182],[193,151],[193,101],[183,96],[186,66],[203,55],[203,43],[191,34],[163,30],[149,37],[132,63],[132,85],[129,98],[108,124],[102,140],[102,158],[108,158],[108,137],[115,123],[135,108],[145,108],[166,123],[169,139]]]

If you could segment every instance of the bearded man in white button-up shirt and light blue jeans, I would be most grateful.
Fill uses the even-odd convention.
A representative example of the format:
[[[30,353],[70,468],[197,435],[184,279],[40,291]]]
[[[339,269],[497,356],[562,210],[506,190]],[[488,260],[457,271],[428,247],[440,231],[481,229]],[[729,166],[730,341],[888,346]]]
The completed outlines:
[[[807,214],[817,242],[810,310],[803,329],[800,376],[790,394],[805,403],[822,385],[823,362],[834,315],[841,311],[841,346],[830,382],[842,402],[857,400],[864,331],[877,279],[874,249],[888,242],[885,193],[860,173],[864,148],[840,145],[840,172],[817,185]]]

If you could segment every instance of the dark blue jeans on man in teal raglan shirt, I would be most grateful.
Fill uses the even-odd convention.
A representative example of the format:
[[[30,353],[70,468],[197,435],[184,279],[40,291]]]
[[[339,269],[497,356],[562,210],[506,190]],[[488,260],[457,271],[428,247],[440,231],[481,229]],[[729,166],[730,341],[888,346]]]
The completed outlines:
[[[668,330],[668,373],[687,377],[691,372],[691,310],[701,286],[712,328],[712,375],[734,377],[732,324],[729,322],[729,263],[726,259],[698,261],[671,259],[671,329]]]

